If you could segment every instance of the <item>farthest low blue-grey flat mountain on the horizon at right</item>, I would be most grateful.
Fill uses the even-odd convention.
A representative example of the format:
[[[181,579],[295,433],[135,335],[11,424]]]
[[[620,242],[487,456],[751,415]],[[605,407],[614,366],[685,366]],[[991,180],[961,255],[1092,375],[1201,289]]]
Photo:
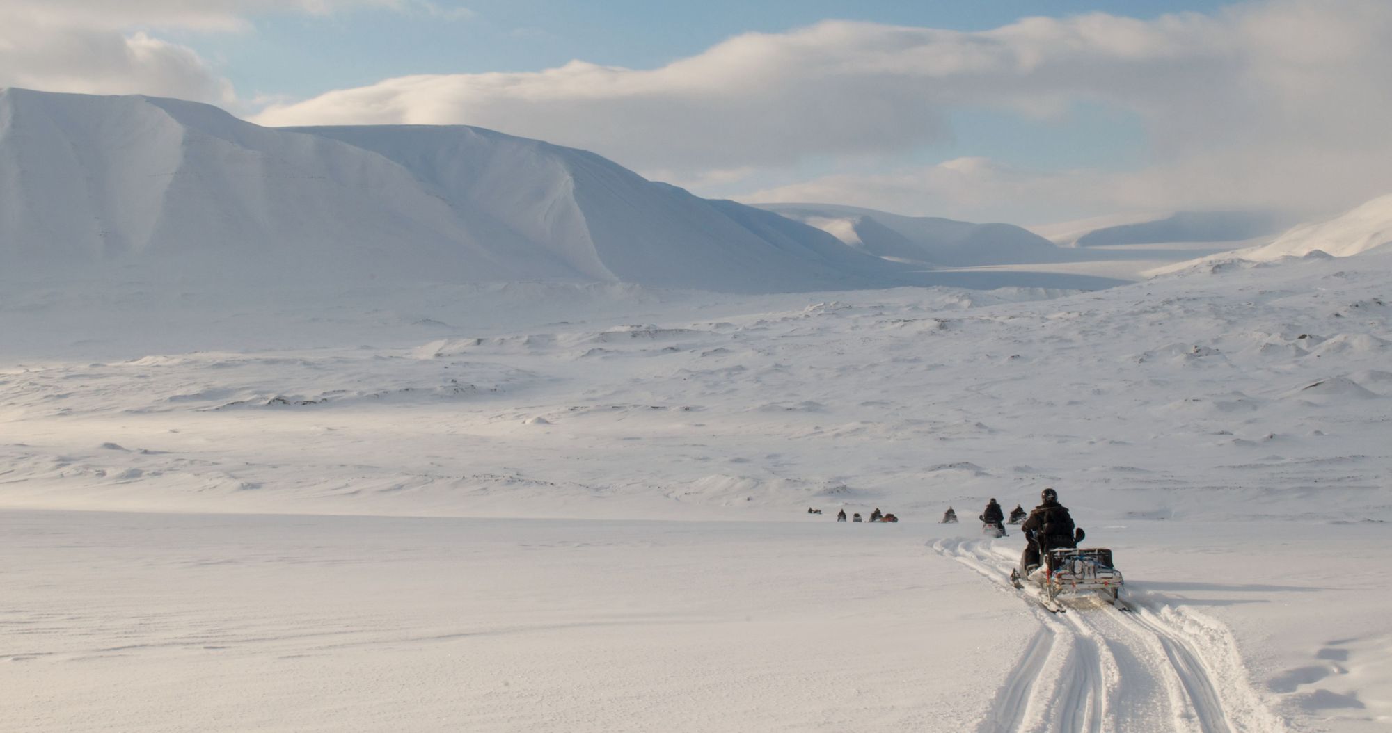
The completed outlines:
[[[1165,242],[1243,242],[1274,235],[1290,220],[1272,211],[1172,211],[1107,216],[1030,227],[1059,246],[1119,246]]]

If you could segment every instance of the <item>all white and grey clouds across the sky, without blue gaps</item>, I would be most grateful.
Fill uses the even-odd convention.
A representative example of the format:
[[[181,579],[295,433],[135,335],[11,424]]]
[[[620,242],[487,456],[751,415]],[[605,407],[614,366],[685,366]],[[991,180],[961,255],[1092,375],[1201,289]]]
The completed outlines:
[[[0,86],[149,93],[246,111],[252,103],[214,65],[159,36],[252,33],[249,18],[263,14],[363,7],[425,22],[472,15],[430,0],[7,0]],[[1013,221],[1203,207],[1322,213],[1392,191],[1388,38],[1385,0],[1268,0],[1154,19],[1025,18],[981,32],[825,21],[735,36],[660,68],[572,61],[539,72],[402,76],[276,103],[252,120],[472,124],[596,150],[748,202]],[[1137,120],[1147,163],[910,163],[954,140],[960,110],[1040,121],[1020,129],[1047,147],[1043,122],[1066,124],[1079,106]]]

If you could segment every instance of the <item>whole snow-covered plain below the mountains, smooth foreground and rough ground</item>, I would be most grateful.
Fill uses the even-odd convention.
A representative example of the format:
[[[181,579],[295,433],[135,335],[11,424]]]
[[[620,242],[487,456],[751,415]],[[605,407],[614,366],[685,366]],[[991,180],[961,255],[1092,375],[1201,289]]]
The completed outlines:
[[[1388,271],[11,289],[0,727],[1377,730]],[[1044,485],[1134,616],[1002,587]]]

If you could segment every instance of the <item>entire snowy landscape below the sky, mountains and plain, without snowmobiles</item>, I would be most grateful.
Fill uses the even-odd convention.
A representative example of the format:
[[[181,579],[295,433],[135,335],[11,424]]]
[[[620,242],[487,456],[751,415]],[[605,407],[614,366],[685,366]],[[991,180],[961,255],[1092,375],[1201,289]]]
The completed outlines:
[[[1058,246],[0,92],[0,729],[1381,730],[1389,210]],[[1044,487],[1134,612],[1004,581]]]

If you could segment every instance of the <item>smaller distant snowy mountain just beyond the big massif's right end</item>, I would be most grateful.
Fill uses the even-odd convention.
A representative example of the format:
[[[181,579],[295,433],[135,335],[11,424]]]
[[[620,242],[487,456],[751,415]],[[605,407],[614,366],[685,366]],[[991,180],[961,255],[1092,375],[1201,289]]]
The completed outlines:
[[[906,217],[821,203],[770,203],[759,207],[817,227],[853,249],[891,260],[970,267],[1057,261],[1062,255],[1048,239],[1013,224]]]

